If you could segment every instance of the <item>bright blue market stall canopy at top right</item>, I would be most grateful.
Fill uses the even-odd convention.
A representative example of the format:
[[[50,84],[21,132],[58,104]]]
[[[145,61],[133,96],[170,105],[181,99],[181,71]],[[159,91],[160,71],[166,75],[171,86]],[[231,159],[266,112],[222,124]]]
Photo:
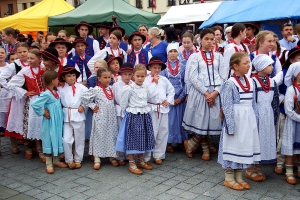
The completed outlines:
[[[295,0],[223,1],[199,29],[214,24],[300,19],[300,3]]]

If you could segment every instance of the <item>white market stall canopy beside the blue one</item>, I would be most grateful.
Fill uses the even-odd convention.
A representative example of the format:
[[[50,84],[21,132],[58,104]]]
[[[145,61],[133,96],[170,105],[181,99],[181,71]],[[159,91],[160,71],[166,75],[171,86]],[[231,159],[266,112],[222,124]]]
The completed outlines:
[[[220,4],[221,2],[210,2],[172,6],[158,21],[157,25],[205,21],[215,12]]]

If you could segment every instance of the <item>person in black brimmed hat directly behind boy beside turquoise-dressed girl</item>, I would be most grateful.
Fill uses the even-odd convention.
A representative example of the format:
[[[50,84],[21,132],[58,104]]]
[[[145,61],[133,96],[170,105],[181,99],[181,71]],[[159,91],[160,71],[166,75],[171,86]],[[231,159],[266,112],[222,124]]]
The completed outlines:
[[[56,38],[53,42],[50,43],[49,47],[53,47],[58,52],[58,59],[60,65],[62,66],[75,66],[74,62],[68,58],[68,52],[72,49],[72,44],[67,42],[63,38]]]

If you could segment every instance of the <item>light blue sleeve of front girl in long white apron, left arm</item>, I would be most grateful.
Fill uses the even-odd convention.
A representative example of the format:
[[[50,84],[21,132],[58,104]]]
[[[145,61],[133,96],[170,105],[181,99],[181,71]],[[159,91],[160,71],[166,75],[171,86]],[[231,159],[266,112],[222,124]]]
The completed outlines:
[[[231,81],[226,81],[220,90],[222,109],[225,115],[225,123],[228,129],[228,134],[234,134],[234,113],[233,113],[233,100],[235,85]]]

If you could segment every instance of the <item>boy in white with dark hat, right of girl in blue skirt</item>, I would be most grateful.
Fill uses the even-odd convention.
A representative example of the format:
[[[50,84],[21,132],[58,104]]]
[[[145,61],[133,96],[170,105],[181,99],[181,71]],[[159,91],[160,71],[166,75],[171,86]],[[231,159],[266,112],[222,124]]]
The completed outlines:
[[[167,66],[163,61],[153,56],[147,65],[147,69],[151,71],[145,79],[145,84],[149,86],[151,97],[148,105],[151,107],[152,126],[155,138],[155,150],[153,152],[153,161],[157,165],[162,164],[162,159],[165,159],[166,147],[169,135],[169,105],[174,105],[175,90],[171,82],[159,73],[166,69]],[[155,82],[156,79],[159,79]],[[156,93],[157,95],[152,95]],[[148,162],[151,158],[151,153],[146,152],[145,161]]]

